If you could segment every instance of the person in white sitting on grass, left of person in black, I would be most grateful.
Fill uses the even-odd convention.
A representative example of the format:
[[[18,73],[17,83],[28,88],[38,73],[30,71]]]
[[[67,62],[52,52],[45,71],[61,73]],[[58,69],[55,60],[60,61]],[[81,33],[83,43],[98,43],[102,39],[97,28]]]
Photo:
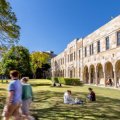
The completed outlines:
[[[71,92],[71,90],[67,90],[64,93],[64,103],[65,104],[75,104],[75,101],[72,98],[72,92]]]

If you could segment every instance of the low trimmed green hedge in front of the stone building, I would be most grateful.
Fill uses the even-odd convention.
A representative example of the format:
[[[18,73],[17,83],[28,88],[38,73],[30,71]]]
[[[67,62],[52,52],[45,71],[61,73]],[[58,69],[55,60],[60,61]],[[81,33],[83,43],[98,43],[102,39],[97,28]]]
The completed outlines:
[[[83,85],[83,83],[80,81],[80,79],[77,78],[63,78],[63,77],[58,77],[54,78],[53,80],[55,83],[61,83],[64,85]]]

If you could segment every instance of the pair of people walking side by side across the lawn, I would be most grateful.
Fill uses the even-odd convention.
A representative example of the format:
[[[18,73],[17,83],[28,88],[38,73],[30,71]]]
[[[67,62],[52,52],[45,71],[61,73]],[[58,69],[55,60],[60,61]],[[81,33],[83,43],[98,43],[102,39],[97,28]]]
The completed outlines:
[[[19,72],[10,72],[11,81],[8,86],[8,98],[3,109],[3,120],[9,120],[13,116],[14,120],[34,120],[30,116],[29,107],[33,100],[32,87],[28,84],[28,78],[19,80]]]

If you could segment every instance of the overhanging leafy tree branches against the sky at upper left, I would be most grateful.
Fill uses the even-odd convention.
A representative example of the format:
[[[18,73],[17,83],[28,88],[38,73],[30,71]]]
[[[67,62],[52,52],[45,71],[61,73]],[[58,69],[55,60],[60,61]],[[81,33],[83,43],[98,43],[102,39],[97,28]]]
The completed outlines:
[[[0,0],[0,47],[13,45],[18,42],[20,27],[16,24],[17,18],[10,3]]]

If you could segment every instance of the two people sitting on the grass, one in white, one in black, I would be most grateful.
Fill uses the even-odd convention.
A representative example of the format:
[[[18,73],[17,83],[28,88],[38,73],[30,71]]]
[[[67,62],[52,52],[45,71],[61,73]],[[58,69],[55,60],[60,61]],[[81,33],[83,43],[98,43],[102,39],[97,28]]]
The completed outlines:
[[[88,101],[96,101],[96,95],[95,92],[92,90],[92,88],[88,88],[89,90],[89,94],[87,95],[86,99]],[[72,97],[72,92],[71,90],[67,90],[64,93],[64,103],[65,104],[83,104],[83,100],[82,99],[78,99],[78,98],[73,98]]]

